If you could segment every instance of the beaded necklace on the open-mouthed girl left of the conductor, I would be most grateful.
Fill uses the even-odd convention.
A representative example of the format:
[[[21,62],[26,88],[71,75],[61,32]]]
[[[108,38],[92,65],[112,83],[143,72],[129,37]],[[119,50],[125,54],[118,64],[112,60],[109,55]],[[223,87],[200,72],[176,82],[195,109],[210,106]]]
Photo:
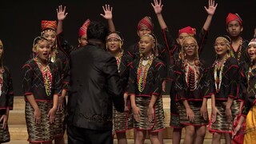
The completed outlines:
[[[38,64],[38,67],[42,73],[43,83],[46,88],[46,95],[50,96],[53,82],[53,77],[50,73],[50,66],[47,64],[46,67],[43,67],[42,63],[38,62],[38,58],[34,58],[34,61]]]

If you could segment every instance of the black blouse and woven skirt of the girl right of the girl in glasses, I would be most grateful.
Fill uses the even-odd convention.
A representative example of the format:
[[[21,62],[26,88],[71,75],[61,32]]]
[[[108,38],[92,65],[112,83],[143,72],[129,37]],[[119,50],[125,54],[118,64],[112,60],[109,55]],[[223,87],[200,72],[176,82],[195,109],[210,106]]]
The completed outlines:
[[[210,79],[212,81],[210,93],[215,95],[215,106],[220,111],[216,115],[216,122],[210,120],[210,132],[230,133],[233,128],[234,118],[239,112],[238,103],[238,61],[235,58],[227,58],[222,66],[218,62],[210,68]],[[226,102],[228,98],[234,98],[231,106],[232,121],[227,122]]]

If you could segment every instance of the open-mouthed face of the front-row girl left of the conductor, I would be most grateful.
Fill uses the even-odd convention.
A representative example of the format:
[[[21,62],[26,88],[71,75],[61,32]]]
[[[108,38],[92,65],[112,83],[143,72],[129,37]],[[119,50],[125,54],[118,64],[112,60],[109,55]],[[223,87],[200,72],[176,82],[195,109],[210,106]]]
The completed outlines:
[[[33,52],[36,54],[39,62],[47,62],[50,58],[50,42],[46,39],[39,39],[33,48]]]

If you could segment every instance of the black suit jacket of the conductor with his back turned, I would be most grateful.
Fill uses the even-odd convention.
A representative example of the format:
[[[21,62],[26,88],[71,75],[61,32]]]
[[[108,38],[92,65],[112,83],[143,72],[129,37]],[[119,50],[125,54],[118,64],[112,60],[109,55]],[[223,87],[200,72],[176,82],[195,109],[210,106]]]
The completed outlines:
[[[88,44],[70,54],[68,124],[90,130],[112,129],[112,105],[124,110],[116,59]]]

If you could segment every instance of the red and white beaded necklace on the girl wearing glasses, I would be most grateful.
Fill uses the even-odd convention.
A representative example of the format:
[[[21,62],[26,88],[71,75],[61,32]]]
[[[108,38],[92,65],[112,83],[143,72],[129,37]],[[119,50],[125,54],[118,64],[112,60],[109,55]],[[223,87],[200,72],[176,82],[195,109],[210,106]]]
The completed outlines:
[[[192,68],[191,66],[194,66]],[[184,64],[186,84],[189,86],[190,91],[194,91],[198,87],[199,70],[198,66],[191,65],[187,60]]]

